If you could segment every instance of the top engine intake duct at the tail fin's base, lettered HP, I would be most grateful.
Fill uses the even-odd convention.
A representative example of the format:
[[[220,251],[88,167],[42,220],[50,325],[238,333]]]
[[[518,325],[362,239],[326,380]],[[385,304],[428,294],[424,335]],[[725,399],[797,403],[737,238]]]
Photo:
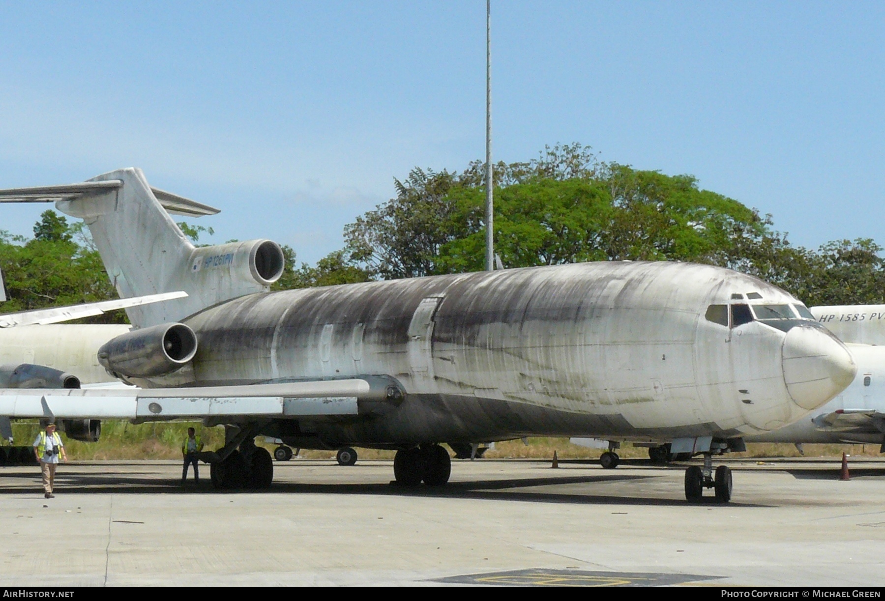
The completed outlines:
[[[197,247],[190,253],[189,277],[209,286],[223,287],[232,281],[270,286],[280,279],[285,265],[279,244],[250,240]]]

